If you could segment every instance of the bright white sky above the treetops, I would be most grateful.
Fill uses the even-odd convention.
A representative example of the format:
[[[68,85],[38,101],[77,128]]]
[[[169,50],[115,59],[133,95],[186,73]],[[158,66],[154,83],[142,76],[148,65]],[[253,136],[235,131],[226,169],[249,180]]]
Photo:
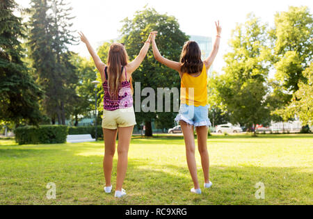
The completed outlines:
[[[29,7],[29,0],[15,0],[22,7]],[[83,31],[90,43],[118,38],[122,19],[132,18],[137,10],[145,5],[155,8],[158,13],[173,15],[180,28],[187,35],[209,36],[215,40],[214,22],[220,21],[222,38],[220,50],[214,61],[213,70],[221,72],[225,65],[223,56],[229,51],[227,42],[237,23],[246,22],[248,13],[260,17],[263,23],[273,26],[276,12],[286,11],[289,6],[309,6],[313,11],[312,0],[67,0],[72,6],[73,28]],[[78,34],[77,34],[78,35]],[[71,48],[81,56],[88,56],[83,44]]]

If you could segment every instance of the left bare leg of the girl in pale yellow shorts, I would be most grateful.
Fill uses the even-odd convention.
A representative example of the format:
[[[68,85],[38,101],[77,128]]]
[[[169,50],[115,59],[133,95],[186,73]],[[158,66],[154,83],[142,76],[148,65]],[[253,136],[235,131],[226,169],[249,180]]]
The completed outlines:
[[[104,136],[104,159],[103,171],[104,178],[106,179],[106,186],[111,186],[111,175],[113,167],[113,157],[115,154],[115,141],[118,130],[103,129]]]

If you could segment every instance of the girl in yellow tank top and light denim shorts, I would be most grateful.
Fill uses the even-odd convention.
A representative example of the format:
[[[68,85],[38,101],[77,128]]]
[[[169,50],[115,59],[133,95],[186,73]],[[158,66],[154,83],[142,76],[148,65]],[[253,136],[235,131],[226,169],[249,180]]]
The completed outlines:
[[[204,173],[204,188],[212,186],[211,181],[209,181],[209,154],[207,152],[207,129],[211,126],[207,105],[207,71],[218,53],[220,33],[222,31],[219,22],[216,23],[216,31],[217,35],[213,51],[203,62],[197,42],[188,41],[184,44],[180,62],[178,63],[161,56],[155,42],[156,33],[152,36],[152,48],[155,59],[179,72],[181,78],[181,106],[175,120],[180,123],[184,133],[188,169],[194,185],[194,188],[191,188],[191,192],[197,194],[201,193],[201,189],[198,183],[197,165],[195,163],[193,127],[195,127],[198,136],[198,150]]]

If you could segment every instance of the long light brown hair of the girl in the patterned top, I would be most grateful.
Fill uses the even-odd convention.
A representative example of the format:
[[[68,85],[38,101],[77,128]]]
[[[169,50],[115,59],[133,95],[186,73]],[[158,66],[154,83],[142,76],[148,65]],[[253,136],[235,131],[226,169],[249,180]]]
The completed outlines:
[[[108,86],[111,97],[118,98],[120,83],[122,82],[122,66],[128,63],[127,51],[123,44],[113,43],[109,49],[108,56]],[[132,79],[131,90],[133,89]]]

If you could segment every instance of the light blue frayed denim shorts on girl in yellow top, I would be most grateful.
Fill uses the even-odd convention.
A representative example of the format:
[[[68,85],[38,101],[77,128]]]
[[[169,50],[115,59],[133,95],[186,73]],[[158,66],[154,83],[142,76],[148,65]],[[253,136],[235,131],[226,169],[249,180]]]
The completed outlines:
[[[180,105],[179,113],[175,118],[175,121],[184,121],[195,127],[211,127],[208,114],[209,106],[188,106],[182,104]]]

